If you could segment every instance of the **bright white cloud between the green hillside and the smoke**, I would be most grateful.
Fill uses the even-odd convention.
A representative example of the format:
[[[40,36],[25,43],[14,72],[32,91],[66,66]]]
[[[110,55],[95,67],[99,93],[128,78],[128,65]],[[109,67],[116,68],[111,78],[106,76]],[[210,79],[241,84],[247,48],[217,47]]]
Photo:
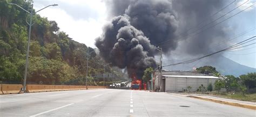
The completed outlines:
[[[58,1],[57,1],[58,2]],[[80,5],[79,7],[90,6],[90,9],[96,10],[97,15],[100,17],[87,19],[81,19],[73,17],[71,14],[66,12],[69,8],[60,8],[58,6],[46,8],[38,14],[42,17],[47,17],[49,20],[55,20],[60,27],[60,31],[69,34],[70,38],[85,45],[95,48],[95,38],[102,34],[102,27],[106,23],[106,9],[105,4],[100,1],[61,1],[67,2],[70,6]],[[43,5],[34,2],[36,10],[39,10],[45,6],[45,4],[54,4],[55,1],[47,1]],[[58,3],[57,3],[58,4]],[[88,9],[88,8],[86,8]],[[79,14],[83,15],[83,14]]]

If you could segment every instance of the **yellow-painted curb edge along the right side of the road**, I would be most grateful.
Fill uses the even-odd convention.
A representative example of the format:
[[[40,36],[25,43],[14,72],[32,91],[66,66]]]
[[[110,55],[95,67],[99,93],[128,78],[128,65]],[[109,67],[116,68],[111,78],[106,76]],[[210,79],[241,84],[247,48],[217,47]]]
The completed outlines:
[[[242,107],[242,108],[248,108],[248,109],[256,110],[256,106],[252,106],[252,105],[232,103],[232,102],[229,102],[229,101],[215,100],[215,99],[203,98],[203,97],[197,97],[197,96],[187,96],[187,97],[206,100],[206,101],[212,101],[214,103],[220,103],[220,104],[226,104],[226,105],[238,106],[238,107]]]

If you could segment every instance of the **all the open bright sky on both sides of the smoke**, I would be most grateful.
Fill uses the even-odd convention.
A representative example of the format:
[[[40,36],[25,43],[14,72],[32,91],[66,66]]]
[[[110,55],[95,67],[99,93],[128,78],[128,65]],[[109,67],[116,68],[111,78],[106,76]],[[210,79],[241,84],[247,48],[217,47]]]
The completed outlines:
[[[227,3],[233,0],[227,1]],[[230,8],[223,12],[228,12],[247,0],[237,0]],[[102,0],[34,0],[34,9],[39,10],[44,6],[50,4],[58,4],[58,6],[46,8],[38,14],[42,17],[46,17],[49,20],[55,20],[60,27],[60,31],[69,34],[70,38],[92,48],[96,48],[95,39],[102,34],[102,27],[110,19],[107,18],[107,9],[105,3]],[[239,9],[231,12],[229,16],[235,14],[241,10],[244,10],[248,6],[255,4],[256,0],[251,0],[246,4],[242,5]],[[226,16],[228,17],[228,16]],[[237,16],[227,21],[228,26],[225,30],[230,37],[233,38],[235,35],[241,32],[248,31],[256,27],[256,10],[255,5],[253,8],[247,9],[244,12],[239,13]],[[232,39],[228,43],[237,43],[256,34],[256,30],[246,33],[237,39]],[[228,40],[228,39],[227,39]],[[255,42],[255,40],[253,41]],[[221,45],[225,48],[225,45]],[[250,49],[247,49],[250,48]],[[242,50],[245,49],[245,50]],[[231,60],[238,62],[248,67],[256,68],[256,48],[255,44],[252,46],[239,48],[239,51],[225,52],[223,55]]]

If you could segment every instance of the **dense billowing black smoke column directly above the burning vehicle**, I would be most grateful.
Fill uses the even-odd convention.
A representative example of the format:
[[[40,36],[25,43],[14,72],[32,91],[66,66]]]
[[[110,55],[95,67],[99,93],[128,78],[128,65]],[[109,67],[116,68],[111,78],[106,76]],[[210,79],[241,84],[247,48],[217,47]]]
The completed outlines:
[[[104,26],[103,32],[96,39],[96,46],[106,62],[126,68],[130,77],[136,74],[138,78],[142,78],[147,67],[156,67],[154,46],[142,31],[130,25],[126,17],[114,17]]]

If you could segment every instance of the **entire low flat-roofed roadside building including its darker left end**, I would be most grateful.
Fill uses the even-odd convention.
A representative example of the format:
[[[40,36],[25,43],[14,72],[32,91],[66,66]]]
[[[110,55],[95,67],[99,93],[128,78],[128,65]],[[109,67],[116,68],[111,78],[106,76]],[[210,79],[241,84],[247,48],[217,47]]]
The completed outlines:
[[[187,90],[187,86],[191,86],[192,88],[190,91],[196,91],[201,84],[203,84],[205,87],[212,84],[214,88],[214,82],[219,78],[206,74],[200,74],[197,71],[163,70],[161,74],[162,77],[160,81],[160,73],[153,73],[153,78],[149,84],[149,89],[154,91],[161,89],[160,91],[163,92],[178,92]]]

